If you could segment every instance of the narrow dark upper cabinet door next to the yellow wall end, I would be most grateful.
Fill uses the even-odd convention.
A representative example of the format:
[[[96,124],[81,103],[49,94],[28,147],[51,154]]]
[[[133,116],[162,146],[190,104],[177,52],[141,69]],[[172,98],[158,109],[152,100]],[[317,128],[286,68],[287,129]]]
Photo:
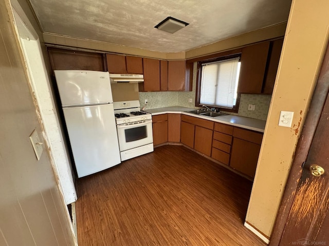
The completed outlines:
[[[271,95],[273,92],[274,83],[276,81],[276,76],[279,66],[282,45],[283,45],[283,38],[271,42],[269,63],[267,66],[267,72],[264,80],[262,94]]]

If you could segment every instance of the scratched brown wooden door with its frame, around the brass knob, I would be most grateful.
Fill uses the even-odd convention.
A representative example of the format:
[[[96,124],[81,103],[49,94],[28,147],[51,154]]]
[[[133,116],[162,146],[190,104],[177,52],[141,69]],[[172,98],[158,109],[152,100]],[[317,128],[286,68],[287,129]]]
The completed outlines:
[[[313,100],[291,167],[270,245],[329,243],[329,52],[321,67]],[[323,106],[323,108],[322,108]],[[319,165],[324,174],[313,176]]]

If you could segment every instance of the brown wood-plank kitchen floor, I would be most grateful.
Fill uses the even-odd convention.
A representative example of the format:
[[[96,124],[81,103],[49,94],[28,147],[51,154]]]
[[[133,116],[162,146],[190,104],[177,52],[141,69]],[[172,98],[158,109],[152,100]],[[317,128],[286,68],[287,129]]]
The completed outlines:
[[[185,147],[158,147],[77,181],[79,246],[264,246],[243,226],[251,186]]]

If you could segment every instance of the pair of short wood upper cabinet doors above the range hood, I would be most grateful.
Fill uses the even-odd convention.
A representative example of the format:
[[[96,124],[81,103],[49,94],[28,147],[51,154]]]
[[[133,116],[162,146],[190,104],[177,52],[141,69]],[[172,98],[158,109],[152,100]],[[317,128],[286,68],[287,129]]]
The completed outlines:
[[[106,60],[109,73],[143,74],[141,57],[106,54]]]

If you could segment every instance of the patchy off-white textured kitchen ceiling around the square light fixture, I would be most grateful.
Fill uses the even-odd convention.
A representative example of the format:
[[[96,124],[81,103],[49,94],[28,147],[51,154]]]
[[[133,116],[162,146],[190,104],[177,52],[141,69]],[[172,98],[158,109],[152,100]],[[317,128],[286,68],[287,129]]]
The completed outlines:
[[[30,0],[44,32],[181,52],[285,22],[291,0]],[[168,16],[190,23],[154,28]]]

